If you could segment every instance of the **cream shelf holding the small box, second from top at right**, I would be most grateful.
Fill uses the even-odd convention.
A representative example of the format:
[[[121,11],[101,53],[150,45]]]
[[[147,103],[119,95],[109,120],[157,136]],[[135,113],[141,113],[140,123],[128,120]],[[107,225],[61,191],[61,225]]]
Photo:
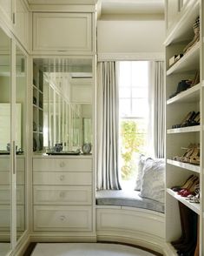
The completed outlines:
[[[180,60],[167,71],[167,76],[184,71],[199,69],[200,42],[194,45]]]

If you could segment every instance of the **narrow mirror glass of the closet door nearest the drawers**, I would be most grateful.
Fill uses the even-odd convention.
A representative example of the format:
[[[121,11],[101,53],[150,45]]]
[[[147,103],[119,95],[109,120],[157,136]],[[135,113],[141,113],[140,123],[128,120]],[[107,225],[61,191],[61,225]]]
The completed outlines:
[[[25,231],[26,57],[16,47],[16,238]]]

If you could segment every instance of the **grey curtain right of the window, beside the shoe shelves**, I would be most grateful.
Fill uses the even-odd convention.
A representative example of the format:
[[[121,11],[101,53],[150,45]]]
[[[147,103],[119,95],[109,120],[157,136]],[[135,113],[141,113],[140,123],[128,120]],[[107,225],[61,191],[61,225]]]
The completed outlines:
[[[150,101],[155,158],[164,158],[165,146],[165,91],[164,62],[151,63]]]

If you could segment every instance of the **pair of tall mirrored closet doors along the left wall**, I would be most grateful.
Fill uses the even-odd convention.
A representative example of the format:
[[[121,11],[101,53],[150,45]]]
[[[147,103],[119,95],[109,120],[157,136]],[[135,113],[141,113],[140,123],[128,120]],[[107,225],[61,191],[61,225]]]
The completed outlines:
[[[0,28],[0,255],[7,255],[25,226],[27,60]]]

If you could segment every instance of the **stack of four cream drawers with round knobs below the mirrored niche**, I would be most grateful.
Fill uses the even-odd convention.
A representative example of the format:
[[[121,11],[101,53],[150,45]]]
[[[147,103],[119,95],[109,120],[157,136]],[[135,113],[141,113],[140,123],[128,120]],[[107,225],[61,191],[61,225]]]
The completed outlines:
[[[33,158],[34,231],[93,231],[92,169],[91,157]]]

